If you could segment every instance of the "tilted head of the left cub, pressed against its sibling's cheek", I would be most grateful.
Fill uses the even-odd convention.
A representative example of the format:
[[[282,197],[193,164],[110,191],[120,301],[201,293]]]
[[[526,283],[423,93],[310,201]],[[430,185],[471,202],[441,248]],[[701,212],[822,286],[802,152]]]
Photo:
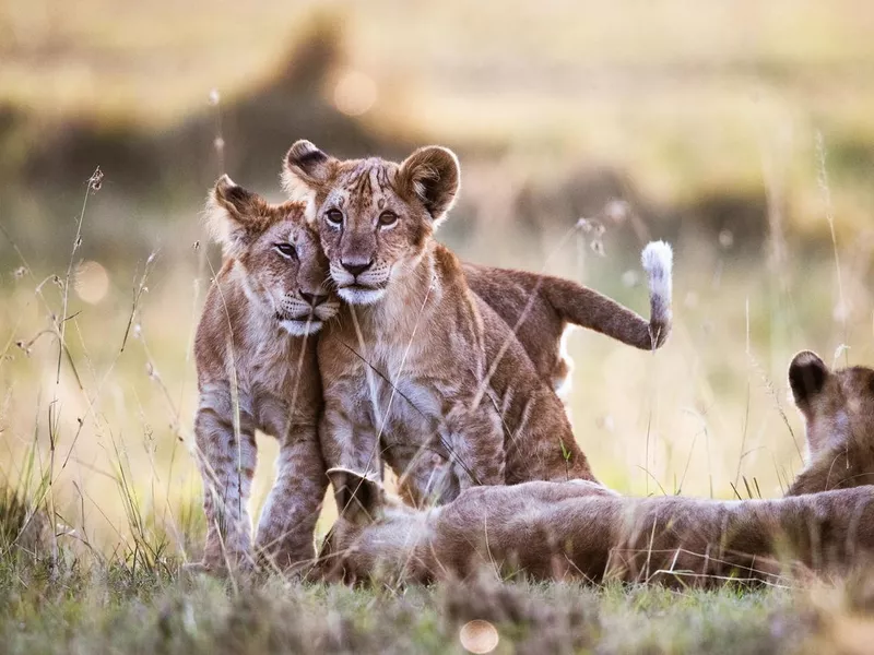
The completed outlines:
[[[268,203],[222,176],[206,205],[226,259],[244,272],[246,295],[293,335],[318,332],[338,311],[327,291],[328,262],[304,206]]]

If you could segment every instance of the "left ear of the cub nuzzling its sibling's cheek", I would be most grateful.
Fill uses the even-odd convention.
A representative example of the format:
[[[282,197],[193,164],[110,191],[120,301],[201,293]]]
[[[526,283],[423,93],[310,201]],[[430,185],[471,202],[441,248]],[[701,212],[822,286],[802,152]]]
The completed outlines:
[[[238,255],[263,228],[264,200],[234,183],[226,175],[218,178],[206,201],[206,224],[226,257]]]

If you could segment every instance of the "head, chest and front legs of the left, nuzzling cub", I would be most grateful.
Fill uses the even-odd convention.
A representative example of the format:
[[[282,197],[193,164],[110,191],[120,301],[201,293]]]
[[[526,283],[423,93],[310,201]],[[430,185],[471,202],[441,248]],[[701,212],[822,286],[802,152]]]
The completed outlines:
[[[256,544],[259,555],[287,569],[315,555],[312,533],[328,483],[311,335],[336,314],[338,302],[326,291],[328,263],[303,205],[268,204],[224,176],[206,213],[224,264],[194,342],[194,433],[208,522],[201,567],[253,562],[248,502],[255,431],[262,430],[280,440],[280,455]]]

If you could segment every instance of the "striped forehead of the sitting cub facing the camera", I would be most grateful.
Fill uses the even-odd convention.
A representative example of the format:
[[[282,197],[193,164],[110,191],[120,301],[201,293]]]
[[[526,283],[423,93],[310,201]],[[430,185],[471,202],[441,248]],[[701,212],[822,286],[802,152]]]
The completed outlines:
[[[381,211],[389,199],[397,195],[397,164],[379,157],[344,162],[326,198],[326,204],[343,207],[347,212]]]

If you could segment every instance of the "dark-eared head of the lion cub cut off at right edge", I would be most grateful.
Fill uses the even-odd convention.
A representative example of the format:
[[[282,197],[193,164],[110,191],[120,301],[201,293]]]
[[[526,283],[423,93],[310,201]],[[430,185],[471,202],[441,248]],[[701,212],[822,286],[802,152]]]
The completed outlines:
[[[807,433],[808,462],[790,496],[874,484],[874,370],[830,371],[810,350],[795,355],[789,384]]]

